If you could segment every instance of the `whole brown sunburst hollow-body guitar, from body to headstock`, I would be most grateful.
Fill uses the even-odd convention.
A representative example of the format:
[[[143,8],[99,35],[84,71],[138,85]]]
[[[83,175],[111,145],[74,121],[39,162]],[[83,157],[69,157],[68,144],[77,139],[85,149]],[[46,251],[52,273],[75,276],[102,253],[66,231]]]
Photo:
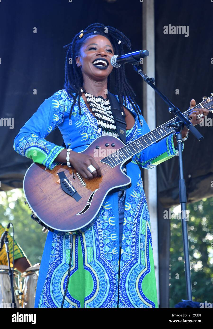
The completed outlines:
[[[203,97],[203,101],[193,109],[199,107],[213,112],[213,94],[209,98]],[[191,110],[183,115],[188,118]],[[101,169],[101,177],[85,179],[67,164],[56,165],[50,170],[42,164],[33,163],[24,176],[23,188],[26,203],[36,220],[45,227],[65,232],[73,232],[89,224],[108,193],[118,191],[122,186],[131,186],[131,178],[123,173],[122,165],[147,146],[171,134],[173,128],[167,127],[167,124],[174,123],[176,119],[127,145],[111,135],[95,139],[80,153],[94,157],[96,152],[94,160]]]

